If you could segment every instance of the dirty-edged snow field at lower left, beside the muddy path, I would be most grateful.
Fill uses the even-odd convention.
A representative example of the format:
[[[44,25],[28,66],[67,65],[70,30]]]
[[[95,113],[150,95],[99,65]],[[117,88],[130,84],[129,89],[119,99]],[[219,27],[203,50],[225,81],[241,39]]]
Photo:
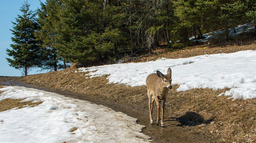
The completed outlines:
[[[0,112],[0,142],[148,142],[136,119],[102,105],[55,93],[6,87],[6,98],[44,101]],[[70,132],[73,128],[76,131]]]

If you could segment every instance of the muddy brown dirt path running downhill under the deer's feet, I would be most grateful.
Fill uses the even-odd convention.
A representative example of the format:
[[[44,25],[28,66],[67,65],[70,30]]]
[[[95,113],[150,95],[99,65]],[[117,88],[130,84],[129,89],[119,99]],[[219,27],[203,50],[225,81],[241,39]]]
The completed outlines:
[[[76,98],[80,100],[87,100],[93,102],[95,104],[101,104],[107,107],[114,109],[115,111],[121,111],[126,113],[127,115],[137,118],[138,124],[142,124],[145,126],[143,129],[143,133],[152,137],[154,142],[216,142],[215,138],[210,137],[209,135],[200,134],[199,132],[195,132],[195,130],[191,130],[189,126],[180,126],[181,123],[176,120],[177,117],[166,117],[165,118],[165,127],[162,128],[160,126],[150,125],[148,119],[148,111],[146,109],[141,109],[140,105],[123,103],[118,104],[108,100],[102,100],[100,98],[92,98],[92,96],[84,95],[84,94],[74,94],[63,92],[60,90],[53,90],[48,88],[42,88],[38,85],[33,84],[25,84],[18,82],[15,78],[5,78],[5,80],[0,80],[0,84],[2,85],[18,85],[27,88],[34,88],[39,90],[44,90],[48,92],[54,92],[57,94],[64,95],[66,97]],[[146,104],[146,103],[141,103]],[[156,117],[155,117],[156,119]],[[115,123],[113,123],[114,125]]]

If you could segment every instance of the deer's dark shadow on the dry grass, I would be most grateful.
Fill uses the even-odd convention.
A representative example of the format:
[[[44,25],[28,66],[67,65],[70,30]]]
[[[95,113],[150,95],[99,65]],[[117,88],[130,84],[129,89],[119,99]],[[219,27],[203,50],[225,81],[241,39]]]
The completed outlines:
[[[165,121],[178,121],[180,122],[177,126],[197,126],[200,124],[209,124],[211,121],[213,121],[216,117],[212,117],[208,120],[205,120],[201,115],[199,115],[196,112],[193,111],[187,111],[185,115],[176,118],[176,117],[170,117],[168,120]]]

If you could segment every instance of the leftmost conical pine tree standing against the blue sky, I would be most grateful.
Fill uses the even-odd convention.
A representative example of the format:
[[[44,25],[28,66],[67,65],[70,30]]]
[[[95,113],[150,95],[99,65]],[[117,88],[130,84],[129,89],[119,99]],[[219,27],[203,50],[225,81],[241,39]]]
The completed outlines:
[[[7,49],[7,54],[12,56],[12,59],[6,58],[9,65],[16,69],[23,69],[25,76],[28,74],[28,69],[38,65],[40,49],[39,41],[35,39],[34,32],[39,29],[35,21],[35,12],[30,10],[30,5],[27,1],[20,7],[22,15],[15,18],[13,23],[11,38],[13,44],[12,49]]]

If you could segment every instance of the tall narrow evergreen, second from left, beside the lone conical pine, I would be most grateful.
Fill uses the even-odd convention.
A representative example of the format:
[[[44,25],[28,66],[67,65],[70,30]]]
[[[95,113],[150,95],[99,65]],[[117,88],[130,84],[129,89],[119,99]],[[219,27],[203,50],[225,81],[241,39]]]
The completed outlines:
[[[57,27],[58,27],[58,11],[61,3],[57,0],[47,0],[46,4],[40,3],[41,8],[37,10],[38,23],[40,30],[36,33],[37,39],[41,41],[40,48],[44,50],[41,56],[41,64],[38,67],[42,69],[53,69],[57,71],[62,68],[60,64],[61,57],[57,50]]]

